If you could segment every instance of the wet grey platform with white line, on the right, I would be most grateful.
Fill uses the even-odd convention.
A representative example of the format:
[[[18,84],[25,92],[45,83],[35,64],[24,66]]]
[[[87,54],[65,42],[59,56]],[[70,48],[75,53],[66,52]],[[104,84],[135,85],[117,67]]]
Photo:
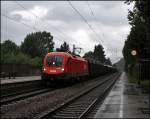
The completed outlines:
[[[149,95],[141,92],[123,72],[94,118],[150,118]]]

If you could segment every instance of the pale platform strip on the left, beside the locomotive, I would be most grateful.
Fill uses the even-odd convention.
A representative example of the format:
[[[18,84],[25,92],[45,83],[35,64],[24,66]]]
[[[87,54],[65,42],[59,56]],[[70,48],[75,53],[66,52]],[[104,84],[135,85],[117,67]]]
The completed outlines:
[[[18,82],[26,82],[26,81],[35,81],[40,80],[41,76],[26,76],[26,77],[15,77],[15,79],[9,78],[1,78],[1,85],[8,83],[18,83]]]

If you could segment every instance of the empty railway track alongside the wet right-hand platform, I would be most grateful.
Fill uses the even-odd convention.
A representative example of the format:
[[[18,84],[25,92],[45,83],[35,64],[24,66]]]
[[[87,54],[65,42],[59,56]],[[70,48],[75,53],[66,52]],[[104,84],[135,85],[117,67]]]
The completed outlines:
[[[95,104],[102,102],[119,75],[120,74],[111,76],[107,80],[75,96],[40,118],[85,118],[90,110],[95,107]]]

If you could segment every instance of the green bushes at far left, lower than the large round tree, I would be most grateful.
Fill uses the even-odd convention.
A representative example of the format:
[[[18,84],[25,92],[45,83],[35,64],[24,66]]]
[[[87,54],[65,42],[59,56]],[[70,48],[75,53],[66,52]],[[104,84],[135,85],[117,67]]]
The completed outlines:
[[[35,67],[42,65],[42,57],[37,57],[37,55],[33,58],[29,57],[29,55],[23,53],[19,46],[11,40],[0,43],[0,49],[1,64],[29,64]]]

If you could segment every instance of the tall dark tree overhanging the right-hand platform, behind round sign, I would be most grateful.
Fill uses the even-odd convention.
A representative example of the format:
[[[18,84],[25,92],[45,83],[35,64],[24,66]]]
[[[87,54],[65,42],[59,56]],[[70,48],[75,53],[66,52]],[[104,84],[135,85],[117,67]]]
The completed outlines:
[[[133,0],[126,1],[127,4],[131,2],[133,2]],[[128,66],[134,67],[138,59],[149,58],[150,56],[150,1],[138,0],[134,2],[133,10],[128,13],[131,31],[123,48],[126,70]],[[137,56],[131,55],[132,50],[137,51]]]

